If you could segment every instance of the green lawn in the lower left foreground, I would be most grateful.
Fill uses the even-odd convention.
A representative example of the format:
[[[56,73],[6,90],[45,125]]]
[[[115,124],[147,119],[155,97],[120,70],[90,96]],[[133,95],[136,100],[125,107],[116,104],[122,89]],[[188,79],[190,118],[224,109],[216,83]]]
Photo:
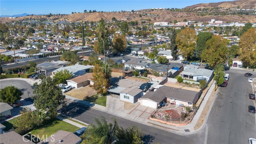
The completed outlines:
[[[64,122],[63,120],[55,119],[55,120],[48,122],[44,126],[35,128],[34,130],[31,131],[31,134],[40,136],[40,138],[42,138],[42,136],[44,136],[44,138],[46,138],[46,135],[50,136],[51,134],[54,134],[54,133],[58,132],[59,130],[75,132],[78,129],[79,128],[77,126],[74,126],[72,124]]]

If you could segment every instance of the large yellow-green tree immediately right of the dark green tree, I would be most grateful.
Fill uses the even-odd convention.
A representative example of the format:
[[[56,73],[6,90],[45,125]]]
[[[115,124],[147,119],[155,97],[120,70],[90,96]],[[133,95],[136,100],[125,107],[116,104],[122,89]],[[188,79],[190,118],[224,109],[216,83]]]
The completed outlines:
[[[228,54],[227,42],[221,36],[213,35],[206,42],[206,48],[202,51],[201,59],[208,62],[211,68],[226,62]]]

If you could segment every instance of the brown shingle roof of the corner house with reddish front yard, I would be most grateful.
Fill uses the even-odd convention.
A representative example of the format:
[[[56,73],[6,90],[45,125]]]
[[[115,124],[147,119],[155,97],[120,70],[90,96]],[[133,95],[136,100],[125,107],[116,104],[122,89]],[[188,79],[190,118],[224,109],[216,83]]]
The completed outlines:
[[[192,90],[184,90],[181,88],[174,88],[169,86],[161,86],[154,92],[147,92],[141,99],[150,99],[158,104],[164,100],[164,98],[173,98],[176,100],[182,100],[185,102],[193,102],[198,92]]]

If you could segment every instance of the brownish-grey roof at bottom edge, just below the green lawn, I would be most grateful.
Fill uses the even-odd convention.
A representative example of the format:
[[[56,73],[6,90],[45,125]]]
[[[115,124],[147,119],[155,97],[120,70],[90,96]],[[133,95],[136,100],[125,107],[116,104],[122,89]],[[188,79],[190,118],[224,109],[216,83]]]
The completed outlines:
[[[52,134],[48,138],[46,138],[47,142],[39,142],[38,144],[77,144],[82,139],[76,136],[72,132],[66,132],[64,130],[59,130],[55,134]],[[59,142],[61,140],[61,142]]]

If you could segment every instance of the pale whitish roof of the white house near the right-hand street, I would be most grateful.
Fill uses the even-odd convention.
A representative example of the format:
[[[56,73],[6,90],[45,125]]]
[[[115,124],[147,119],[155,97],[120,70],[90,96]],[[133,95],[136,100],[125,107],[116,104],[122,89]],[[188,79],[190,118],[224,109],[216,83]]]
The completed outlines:
[[[202,69],[202,68],[186,68],[184,69],[182,74],[190,75],[190,76],[206,76],[210,78],[213,74],[213,71]]]

